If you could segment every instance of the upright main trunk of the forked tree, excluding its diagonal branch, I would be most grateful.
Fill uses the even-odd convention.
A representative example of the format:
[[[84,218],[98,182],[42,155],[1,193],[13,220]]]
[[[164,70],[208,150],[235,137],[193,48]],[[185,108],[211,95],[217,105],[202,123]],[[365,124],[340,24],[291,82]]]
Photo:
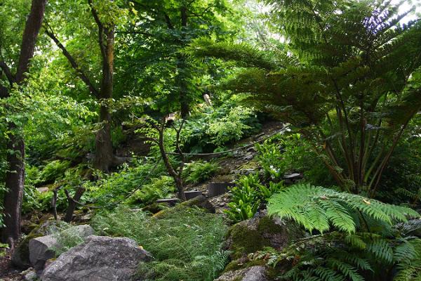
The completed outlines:
[[[95,169],[109,171],[114,159],[111,139],[111,114],[107,106],[107,100],[112,98],[113,75],[114,75],[114,27],[104,29],[107,42],[102,51],[102,83],[100,99],[105,101],[100,105],[100,123],[95,138]],[[100,43],[101,44],[101,43]]]

